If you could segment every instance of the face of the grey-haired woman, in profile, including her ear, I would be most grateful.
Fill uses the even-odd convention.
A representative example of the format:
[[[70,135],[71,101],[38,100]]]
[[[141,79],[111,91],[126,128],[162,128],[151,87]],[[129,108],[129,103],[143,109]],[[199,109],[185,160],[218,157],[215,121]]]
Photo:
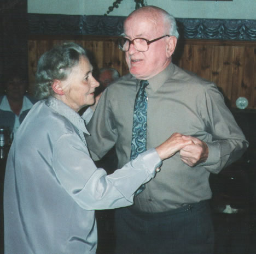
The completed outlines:
[[[64,95],[61,100],[78,112],[86,105],[95,102],[94,91],[100,84],[92,76],[92,66],[86,57],[81,57],[66,80],[61,81]]]

